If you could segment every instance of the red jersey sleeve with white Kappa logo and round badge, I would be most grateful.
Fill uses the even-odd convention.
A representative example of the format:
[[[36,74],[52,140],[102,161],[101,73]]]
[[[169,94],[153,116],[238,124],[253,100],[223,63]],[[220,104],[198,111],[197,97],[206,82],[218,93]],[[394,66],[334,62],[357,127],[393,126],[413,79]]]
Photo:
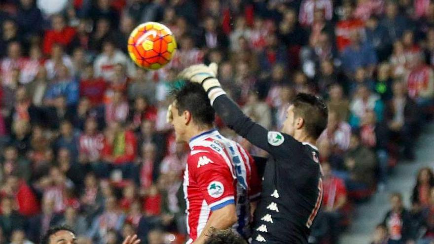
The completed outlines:
[[[213,152],[190,154],[188,160],[199,190],[212,211],[235,204],[235,178],[230,162]]]

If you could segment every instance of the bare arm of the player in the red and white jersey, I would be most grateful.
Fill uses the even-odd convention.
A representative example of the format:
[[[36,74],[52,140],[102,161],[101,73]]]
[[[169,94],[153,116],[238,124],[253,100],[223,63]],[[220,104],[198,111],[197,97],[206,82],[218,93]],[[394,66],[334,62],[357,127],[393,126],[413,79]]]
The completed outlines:
[[[211,213],[205,228],[193,244],[203,244],[213,229],[224,230],[237,222],[235,204],[229,204]]]

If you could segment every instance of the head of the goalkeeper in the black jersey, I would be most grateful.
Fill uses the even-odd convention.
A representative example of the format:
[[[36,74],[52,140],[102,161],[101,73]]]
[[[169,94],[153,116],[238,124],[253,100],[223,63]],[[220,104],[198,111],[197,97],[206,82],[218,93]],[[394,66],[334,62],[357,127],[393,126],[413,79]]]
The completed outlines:
[[[299,93],[289,105],[282,132],[316,140],[327,126],[327,117],[328,109],[323,99]]]

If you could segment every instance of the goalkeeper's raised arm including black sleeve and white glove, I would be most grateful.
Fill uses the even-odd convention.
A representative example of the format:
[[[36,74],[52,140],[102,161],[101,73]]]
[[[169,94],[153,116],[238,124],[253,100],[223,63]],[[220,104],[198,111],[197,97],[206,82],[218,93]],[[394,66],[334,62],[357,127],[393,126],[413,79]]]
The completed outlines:
[[[191,82],[201,83],[208,93],[211,105],[223,122],[238,135],[249,140],[253,145],[269,152],[274,157],[287,157],[288,146],[295,143],[295,139],[286,134],[269,132],[264,127],[255,123],[246,116],[243,111],[221,88],[216,78],[217,65],[211,64],[191,66],[181,72],[181,77]],[[271,144],[273,143],[273,144]]]

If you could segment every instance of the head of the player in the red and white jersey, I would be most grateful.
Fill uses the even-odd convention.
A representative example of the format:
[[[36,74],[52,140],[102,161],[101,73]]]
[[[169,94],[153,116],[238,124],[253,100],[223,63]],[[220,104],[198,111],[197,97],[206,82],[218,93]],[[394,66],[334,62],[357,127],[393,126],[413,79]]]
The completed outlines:
[[[185,82],[173,93],[175,101],[171,106],[171,116],[178,142],[188,141],[194,136],[194,131],[213,127],[214,108],[200,84]]]

